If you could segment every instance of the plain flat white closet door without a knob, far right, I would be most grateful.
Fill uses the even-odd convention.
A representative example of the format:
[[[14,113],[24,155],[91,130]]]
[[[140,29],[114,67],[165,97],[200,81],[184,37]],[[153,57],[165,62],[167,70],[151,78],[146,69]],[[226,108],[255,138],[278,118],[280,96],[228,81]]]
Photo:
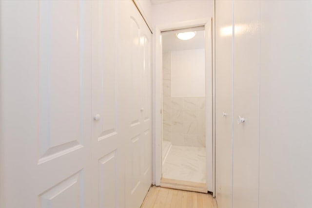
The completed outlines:
[[[311,208],[312,1],[260,1],[260,208]]]

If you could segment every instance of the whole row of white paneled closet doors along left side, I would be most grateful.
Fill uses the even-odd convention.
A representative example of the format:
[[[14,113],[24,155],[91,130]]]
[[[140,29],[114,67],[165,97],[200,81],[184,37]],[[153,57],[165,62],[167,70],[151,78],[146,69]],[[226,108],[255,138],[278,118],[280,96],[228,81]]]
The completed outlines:
[[[151,33],[127,1],[0,1],[1,208],[139,208]]]

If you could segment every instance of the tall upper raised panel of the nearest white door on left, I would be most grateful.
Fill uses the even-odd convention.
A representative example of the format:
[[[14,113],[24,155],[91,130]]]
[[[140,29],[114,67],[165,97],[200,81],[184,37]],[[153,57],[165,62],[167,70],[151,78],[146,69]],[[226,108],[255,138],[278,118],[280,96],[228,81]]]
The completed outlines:
[[[39,3],[39,164],[83,147],[79,3]],[[59,12],[67,13],[66,18]],[[80,29],[80,30],[79,30]],[[68,61],[70,60],[70,61]],[[66,85],[65,85],[66,84]],[[66,87],[65,87],[66,86]],[[73,105],[75,103],[75,105]],[[66,120],[66,125],[59,121]]]

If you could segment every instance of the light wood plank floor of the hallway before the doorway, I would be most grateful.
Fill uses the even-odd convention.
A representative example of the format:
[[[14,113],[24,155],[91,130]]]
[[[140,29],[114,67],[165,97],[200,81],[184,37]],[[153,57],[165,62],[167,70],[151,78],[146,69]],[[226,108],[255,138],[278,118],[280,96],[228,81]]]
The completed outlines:
[[[141,208],[217,208],[211,194],[151,187]]]

